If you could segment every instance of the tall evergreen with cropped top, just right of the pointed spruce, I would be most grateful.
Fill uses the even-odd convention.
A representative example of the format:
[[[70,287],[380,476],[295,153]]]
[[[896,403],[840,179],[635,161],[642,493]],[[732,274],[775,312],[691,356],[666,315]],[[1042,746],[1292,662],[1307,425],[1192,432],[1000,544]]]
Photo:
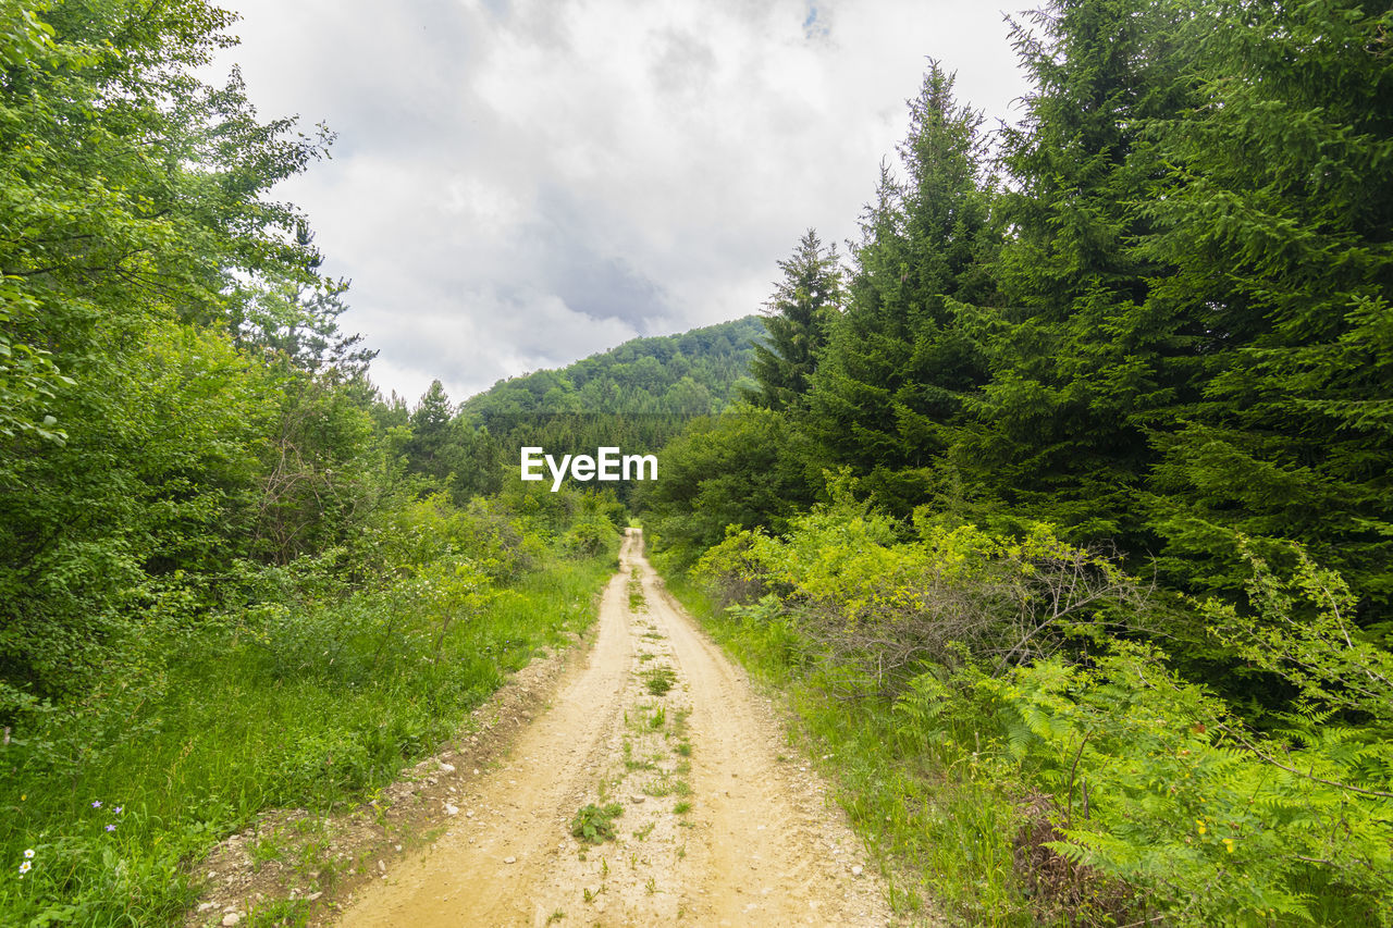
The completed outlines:
[[[1149,301],[1169,272],[1138,249],[1151,233],[1138,203],[1163,174],[1139,124],[1185,102],[1183,18],[1167,4],[1055,0],[1015,26],[1035,88],[1003,139],[1003,315],[963,454],[1010,511],[1133,550],[1151,543],[1135,513],[1153,458],[1145,426],[1180,400],[1197,334]]]

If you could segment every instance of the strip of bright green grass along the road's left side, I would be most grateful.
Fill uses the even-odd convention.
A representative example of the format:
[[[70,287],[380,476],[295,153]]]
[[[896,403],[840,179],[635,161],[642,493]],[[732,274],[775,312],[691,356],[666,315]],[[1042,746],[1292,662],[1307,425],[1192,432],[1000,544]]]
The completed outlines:
[[[329,812],[391,782],[538,648],[584,631],[613,566],[557,560],[525,575],[453,623],[439,654],[437,627],[390,591],[308,608],[269,634],[191,634],[177,660],[53,713],[0,755],[24,750],[0,782],[0,925],[177,921],[219,839],[267,808]],[[252,849],[258,863],[277,854],[274,837]]]

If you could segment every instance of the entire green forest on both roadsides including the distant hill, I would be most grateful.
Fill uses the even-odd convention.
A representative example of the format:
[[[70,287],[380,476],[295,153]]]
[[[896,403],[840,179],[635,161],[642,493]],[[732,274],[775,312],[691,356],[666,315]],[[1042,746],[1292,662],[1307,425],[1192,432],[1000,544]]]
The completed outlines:
[[[0,924],[177,922],[582,633],[634,517],[907,920],[1393,925],[1387,4],[1048,0],[1022,117],[931,61],[762,319],[415,404],[230,25],[0,0]]]

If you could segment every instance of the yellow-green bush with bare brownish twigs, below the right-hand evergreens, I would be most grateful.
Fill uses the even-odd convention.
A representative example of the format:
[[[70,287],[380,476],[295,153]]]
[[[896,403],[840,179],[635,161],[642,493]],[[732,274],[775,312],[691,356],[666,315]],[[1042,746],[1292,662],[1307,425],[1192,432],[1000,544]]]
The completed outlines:
[[[890,518],[843,495],[794,518],[784,539],[733,532],[695,574],[747,599],[776,592],[802,635],[886,693],[925,662],[958,665],[964,647],[1002,673],[1145,620],[1134,581],[1046,525],[1020,538],[933,524],[921,539],[896,535]]]

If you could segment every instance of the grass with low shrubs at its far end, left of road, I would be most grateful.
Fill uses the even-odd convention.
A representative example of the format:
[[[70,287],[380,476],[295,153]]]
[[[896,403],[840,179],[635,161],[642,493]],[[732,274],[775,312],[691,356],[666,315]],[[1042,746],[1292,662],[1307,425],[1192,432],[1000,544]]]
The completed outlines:
[[[82,699],[0,690],[15,718],[0,860],[36,851],[25,881],[0,882],[0,911],[177,918],[195,889],[187,861],[228,830],[269,807],[362,801],[538,647],[584,631],[613,549],[557,560],[524,538],[540,570],[493,580],[499,542],[471,523],[440,499],[393,514],[364,542],[386,573],[361,588],[341,549],[247,564],[248,605],[146,644]]]

